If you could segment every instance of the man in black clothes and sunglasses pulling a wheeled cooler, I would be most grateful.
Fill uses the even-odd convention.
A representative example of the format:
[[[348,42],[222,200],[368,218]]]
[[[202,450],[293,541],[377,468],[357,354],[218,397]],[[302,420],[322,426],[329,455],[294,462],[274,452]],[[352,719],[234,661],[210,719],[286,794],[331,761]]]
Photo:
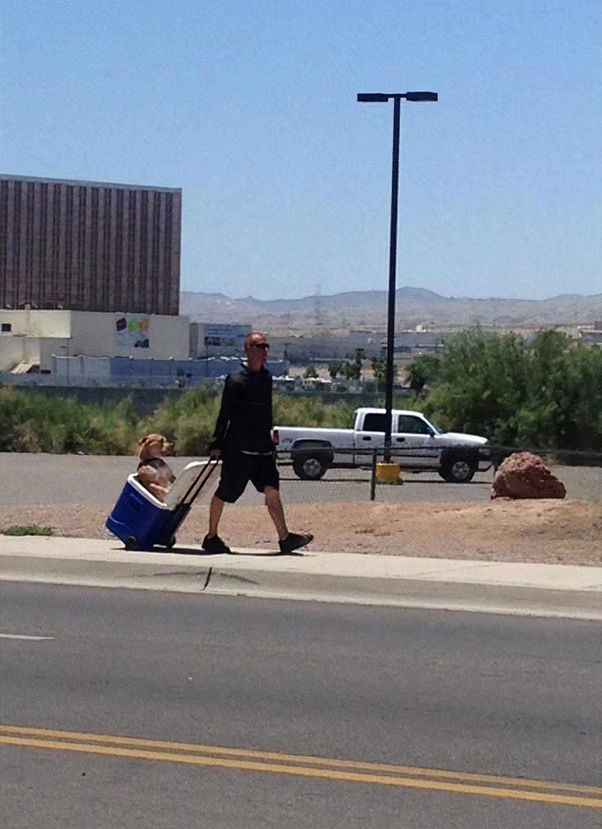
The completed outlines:
[[[278,532],[281,553],[299,550],[313,536],[289,532],[280,501],[279,474],[274,459],[272,376],[264,363],[269,342],[260,331],[245,339],[246,362],[226,377],[220,414],[210,444],[211,457],[221,457],[221,478],[209,507],[209,532],[202,548],[208,553],[229,553],[217,535],[224,504],[234,503],[250,481],[263,492],[265,506]]]

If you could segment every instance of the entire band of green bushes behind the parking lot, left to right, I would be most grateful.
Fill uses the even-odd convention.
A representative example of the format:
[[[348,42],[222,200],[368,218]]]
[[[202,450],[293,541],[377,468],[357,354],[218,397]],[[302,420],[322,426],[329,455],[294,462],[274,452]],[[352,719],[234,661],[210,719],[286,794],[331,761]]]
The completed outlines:
[[[451,340],[424,400],[394,401],[420,408],[443,429],[484,434],[494,444],[533,449],[600,451],[602,443],[602,349],[568,340],[560,332],[537,334],[527,344],[516,334],[479,329]],[[179,455],[198,456],[215,429],[221,395],[197,385],[166,398],[139,419],[132,401],[83,405],[74,395],[0,387],[0,451],[127,454],[150,432],[165,434]],[[319,397],[274,393],[274,424],[348,428],[355,405],[324,404]]]

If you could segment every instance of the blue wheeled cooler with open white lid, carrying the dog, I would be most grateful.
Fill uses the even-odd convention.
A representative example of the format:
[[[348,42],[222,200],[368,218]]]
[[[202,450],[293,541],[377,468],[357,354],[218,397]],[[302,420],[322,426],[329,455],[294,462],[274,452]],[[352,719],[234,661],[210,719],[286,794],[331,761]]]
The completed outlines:
[[[189,463],[170,487],[165,502],[142,486],[137,476],[128,480],[106,520],[107,528],[128,550],[152,550],[153,546],[172,547],[178,526],[187,516],[217,463]]]

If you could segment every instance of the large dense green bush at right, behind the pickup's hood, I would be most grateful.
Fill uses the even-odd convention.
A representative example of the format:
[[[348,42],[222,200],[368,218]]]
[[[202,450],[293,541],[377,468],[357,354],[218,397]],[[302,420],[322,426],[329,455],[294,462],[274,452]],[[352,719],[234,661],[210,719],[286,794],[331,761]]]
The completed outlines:
[[[484,434],[494,444],[600,452],[602,349],[540,332],[480,330],[451,340],[423,410],[444,429]]]

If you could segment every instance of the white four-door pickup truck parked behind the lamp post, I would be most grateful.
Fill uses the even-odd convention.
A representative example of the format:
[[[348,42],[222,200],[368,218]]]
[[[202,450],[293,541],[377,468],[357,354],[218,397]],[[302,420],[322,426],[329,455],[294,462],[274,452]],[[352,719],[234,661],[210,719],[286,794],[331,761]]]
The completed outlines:
[[[435,469],[445,481],[466,483],[478,469],[486,470],[492,464],[486,438],[441,432],[416,411],[393,410],[392,416],[391,461],[402,469]],[[277,426],[278,454],[290,454],[295,474],[306,481],[322,478],[331,467],[370,466],[370,450],[385,444],[385,422],[384,409],[357,409],[352,429]]]

